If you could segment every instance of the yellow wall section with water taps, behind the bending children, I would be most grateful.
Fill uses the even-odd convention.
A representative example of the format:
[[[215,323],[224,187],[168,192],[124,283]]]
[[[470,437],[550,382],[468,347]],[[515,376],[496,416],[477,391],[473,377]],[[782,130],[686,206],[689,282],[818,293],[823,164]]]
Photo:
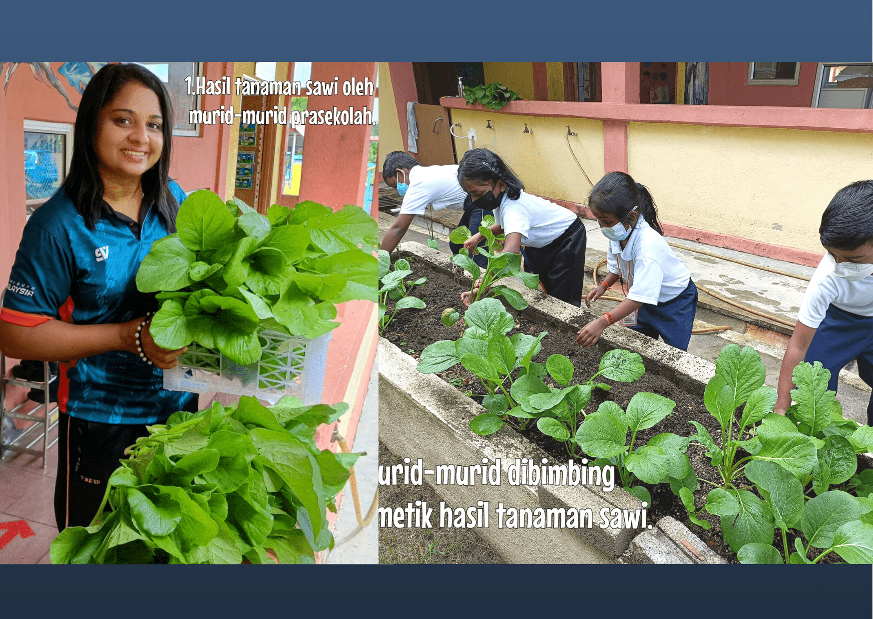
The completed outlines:
[[[491,119],[493,129],[486,129]],[[460,122],[457,134],[476,130],[473,148],[488,148],[509,165],[525,183],[529,193],[587,203],[591,186],[585,180],[567,148],[567,125],[578,135],[569,141],[582,167],[593,182],[604,174],[603,122],[581,118],[546,118],[538,116],[500,115],[470,110],[451,111],[453,123]],[[533,130],[524,133],[525,123]],[[469,148],[467,140],[455,139],[458,161]]]

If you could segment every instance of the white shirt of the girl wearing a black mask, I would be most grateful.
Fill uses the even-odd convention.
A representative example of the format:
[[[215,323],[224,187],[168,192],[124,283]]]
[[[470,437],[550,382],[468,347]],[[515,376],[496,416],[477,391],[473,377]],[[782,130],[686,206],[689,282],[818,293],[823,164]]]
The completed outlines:
[[[526,247],[545,247],[576,219],[571,210],[524,191],[518,200],[510,200],[504,193],[500,205],[494,209],[494,220],[503,228],[503,233],[519,232],[521,244]]]

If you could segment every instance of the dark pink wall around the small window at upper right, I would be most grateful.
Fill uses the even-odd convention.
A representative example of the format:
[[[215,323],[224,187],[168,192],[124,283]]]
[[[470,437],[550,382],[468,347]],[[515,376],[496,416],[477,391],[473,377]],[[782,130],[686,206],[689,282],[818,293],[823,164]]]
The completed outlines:
[[[711,62],[709,105],[810,107],[817,62],[801,62],[797,86],[746,86],[747,62]]]

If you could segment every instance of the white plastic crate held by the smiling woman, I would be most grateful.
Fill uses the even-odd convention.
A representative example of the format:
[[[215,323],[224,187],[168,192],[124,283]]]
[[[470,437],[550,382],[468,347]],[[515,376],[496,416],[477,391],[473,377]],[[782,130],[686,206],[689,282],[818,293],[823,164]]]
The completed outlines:
[[[217,350],[191,344],[178,366],[164,370],[164,389],[252,395],[271,403],[293,395],[306,406],[320,403],[327,343],[333,332],[314,340],[277,331],[262,331],[258,337],[264,354],[247,366],[225,359]]]

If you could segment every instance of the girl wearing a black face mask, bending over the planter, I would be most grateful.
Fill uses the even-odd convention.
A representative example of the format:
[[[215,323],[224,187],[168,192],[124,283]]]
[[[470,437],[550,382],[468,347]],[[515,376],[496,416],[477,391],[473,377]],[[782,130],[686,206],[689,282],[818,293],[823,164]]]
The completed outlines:
[[[485,148],[468,150],[457,167],[457,182],[474,208],[493,210],[494,234],[505,234],[503,251],[519,253],[525,246],[526,271],[540,276],[547,294],[574,306],[582,304],[585,266],[585,226],[572,211],[525,186],[500,157]],[[475,251],[484,237],[474,234],[464,248]],[[470,305],[470,292],[461,295]]]

